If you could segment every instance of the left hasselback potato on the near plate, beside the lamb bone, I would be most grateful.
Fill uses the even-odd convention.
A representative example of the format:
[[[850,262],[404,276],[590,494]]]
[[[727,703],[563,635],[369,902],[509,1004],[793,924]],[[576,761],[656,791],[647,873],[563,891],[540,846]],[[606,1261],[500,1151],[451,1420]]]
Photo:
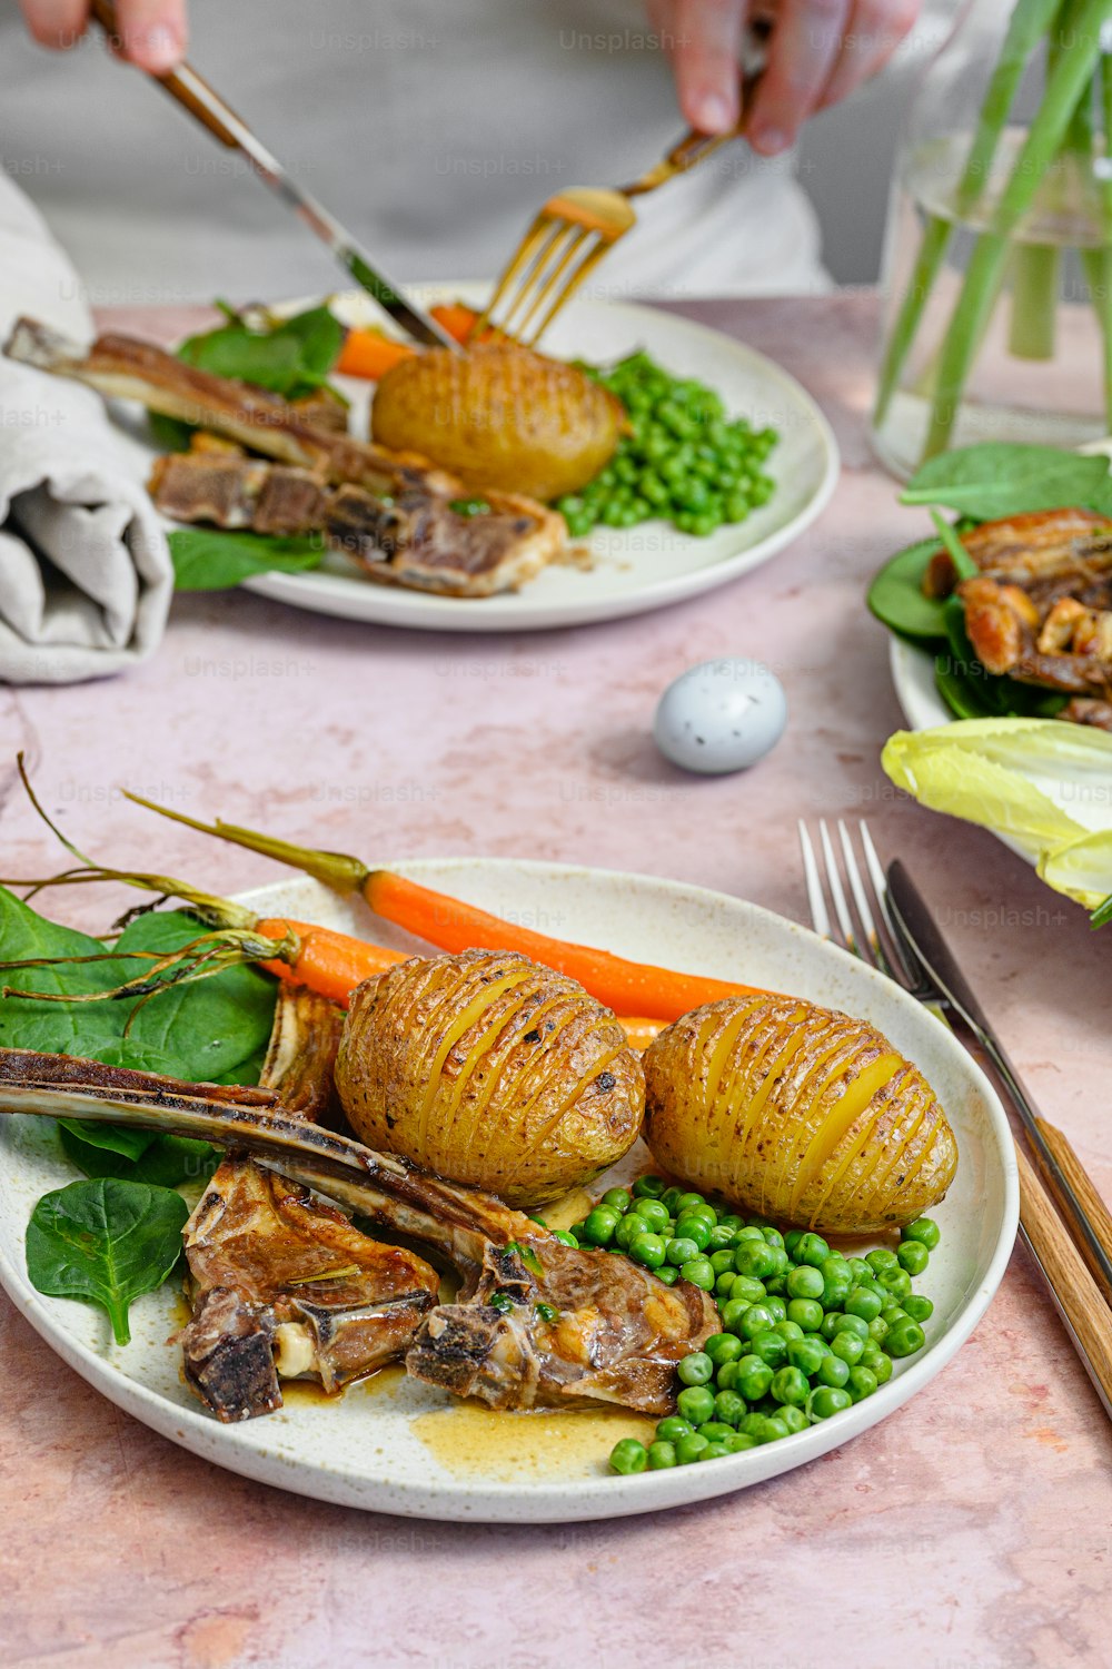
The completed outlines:
[[[517,1207],[612,1165],[645,1107],[610,1010],[517,951],[413,956],[360,985],[335,1083],[368,1147]]]

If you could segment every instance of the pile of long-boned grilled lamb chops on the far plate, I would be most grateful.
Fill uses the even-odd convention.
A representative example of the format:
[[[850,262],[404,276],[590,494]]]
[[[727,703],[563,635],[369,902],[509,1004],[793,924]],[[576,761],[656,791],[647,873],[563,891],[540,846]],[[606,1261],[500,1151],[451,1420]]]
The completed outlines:
[[[452,506],[473,494],[457,476],[417,454],[315,427],[277,394],[183,366],[150,342],[102,335],[85,354],[20,319],[3,352],[277,461],[212,449],[160,459],[150,491],[178,521],[257,532],[323,529],[370,579],[460,598],[517,589],[565,544],[564,517],[535,499],[488,492],[488,511],[462,516]],[[340,491],[330,494],[328,486]]]

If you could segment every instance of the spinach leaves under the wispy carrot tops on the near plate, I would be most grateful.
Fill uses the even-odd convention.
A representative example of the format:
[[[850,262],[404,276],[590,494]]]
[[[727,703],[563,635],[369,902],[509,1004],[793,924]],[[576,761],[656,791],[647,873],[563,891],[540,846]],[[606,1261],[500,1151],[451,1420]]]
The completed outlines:
[[[182,910],[150,911],[130,923],[117,950],[175,951],[203,931]],[[105,948],[100,940],[47,921],[7,888],[0,888],[0,945],[5,960],[92,956]],[[3,970],[0,983],[22,991],[82,995],[108,991],[145,971],[147,960],[125,955],[118,961]],[[225,968],[197,985],[168,986],[140,1008],[133,996],[95,1003],[5,996],[0,998],[0,1045],[45,1055],[83,1055],[192,1082],[242,1071],[238,1082],[248,1082],[270,1036],[273,1005],[273,980],[248,966]],[[98,1140],[103,1145],[107,1138],[100,1135]]]

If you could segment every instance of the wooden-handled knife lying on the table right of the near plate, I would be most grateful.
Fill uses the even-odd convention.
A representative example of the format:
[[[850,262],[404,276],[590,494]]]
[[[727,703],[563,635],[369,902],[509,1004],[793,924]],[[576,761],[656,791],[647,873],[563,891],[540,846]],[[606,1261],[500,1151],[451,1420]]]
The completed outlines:
[[[1032,1102],[1024,1080],[1012,1065],[1012,1060],[1000,1043],[992,1021],[977,1001],[977,996],[962,973],[954,951],[947,945],[942,931],[930,913],[927,901],[912,881],[910,875],[899,861],[889,865],[889,908],[892,918],[925,975],[937,986],[950,1005],[947,1018],[957,1021],[972,1035],[994,1071],[994,1077],[1005,1092],[1009,1102],[1024,1127],[1030,1142],[1039,1170],[1044,1173],[1062,1215],[1067,1220],[1077,1248],[1092,1270],[1094,1280],[1100,1287],[1104,1298],[1112,1305],[1112,1257],[1095,1233],[1085,1208],[1077,1198],[1072,1183],[1059,1165],[1059,1160],[1042,1133],[1042,1117]],[[1080,1168],[1080,1160],[1077,1160]]]

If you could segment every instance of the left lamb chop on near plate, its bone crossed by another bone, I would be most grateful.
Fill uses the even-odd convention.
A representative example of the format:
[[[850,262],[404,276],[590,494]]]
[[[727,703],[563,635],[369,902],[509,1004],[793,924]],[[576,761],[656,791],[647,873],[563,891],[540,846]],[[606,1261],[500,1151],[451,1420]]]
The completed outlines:
[[[292,1118],[330,1112],[340,1020],[323,998],[282,988],[262,1085]],[[243,1153],[222,1160],[182,1238],[185,1380],[220,1420],[280,1409],[280,1379],[338,1390],[403,1355],[440,1283],[423,1258],[368,1240]]]

